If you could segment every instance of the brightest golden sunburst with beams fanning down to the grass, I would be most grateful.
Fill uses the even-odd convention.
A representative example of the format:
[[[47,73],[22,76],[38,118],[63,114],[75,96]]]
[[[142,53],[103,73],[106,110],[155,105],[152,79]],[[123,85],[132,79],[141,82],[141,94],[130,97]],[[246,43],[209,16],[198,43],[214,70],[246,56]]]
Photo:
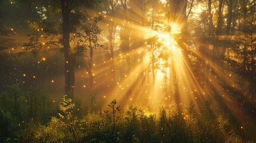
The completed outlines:
[[[104,94],[108,98],[102,98],[103,107],[107,107],[107,104],[113,99],[118,100],[122,105],[147,105],[151,110],[157,110],[158,105],[163,102],[169,104],[171,101],[177,101],[179,104],[187,104],[191,101],[186,96],[184,96],[183,100],[178,100],[177,96],[172,93],[174,90],[172,87],[177,86],[174,85],[175,82],[181,84],[182,87],[189,86],[184,80],[189,73],[187,73],[188,70],[185,70],[187,67],[184,65],[181,49],[175,40],[180,34],[180,26],[176,23],[168,25],[171,28],[165,27],[165,29],[168,29],[167,32],[158,32],[147,27],[132,25],[133,28],[144,32],[144,39],[156,37],[156,41],[153,43],[150,43],[150,41],[145,42],[146,45],[135,51],[119,54],[119,58],[122,60],[121,63],[124,65],[126,55],[132,57],[135,53],[144,53],[140,57],[141,63],[134,66],[134,69],[129,73],[123,73],[124,77],[122,74],[119,75],[116,86],[109,93]],[[143,51],[145,46],[147,51]],[[155,57],[153,58],[153,56]],[[164,57],[161,58],[161,56]],[[119,61],[119,58],[116,57],[115,61]],[[156,63],[153,63],[152,60]],[[181,72],[182,75],[180,75],[181,70],[184,71]],[[176,79],[175,76],[183,78]],[[178,90],[180,91],[181,89]],[[159,93],[162,93],[162,95],[159,96]],[[187,94],[187,92],[184,92],[184,94]],[[195,97],[192,97],[192,99],[194,100]]]

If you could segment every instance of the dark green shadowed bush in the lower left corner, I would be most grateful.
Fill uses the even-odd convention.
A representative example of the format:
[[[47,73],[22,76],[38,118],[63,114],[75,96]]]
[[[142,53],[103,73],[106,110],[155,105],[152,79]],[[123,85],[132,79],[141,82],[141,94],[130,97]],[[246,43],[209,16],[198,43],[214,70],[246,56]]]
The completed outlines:
[[[47,123],[53,107],[49,99],[38,89],[23,91],[19,84],[9,86],[8,92],[0,95],[1,141],[17,142],[27,139],[30,126]],[[35,129],[37,129],[35,127]]]

